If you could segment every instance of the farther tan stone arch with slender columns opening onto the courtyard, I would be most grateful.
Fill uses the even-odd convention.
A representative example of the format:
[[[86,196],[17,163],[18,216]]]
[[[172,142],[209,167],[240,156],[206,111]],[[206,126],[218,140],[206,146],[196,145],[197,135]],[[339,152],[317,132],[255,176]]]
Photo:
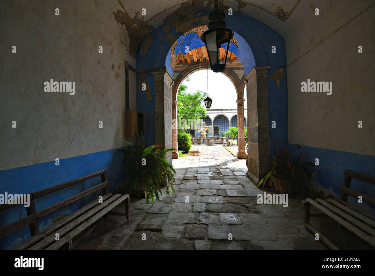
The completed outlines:
[[[190,74],[193,72],[199,71],[199,70],[205,70],[207,69],[207,63],[199,63],[196,65],[190,66],[188,69],[186,69],[184,72],[182,72],[174,83],[172,84],[172,101],[171,101],[171,108],[172,108],[172,122],[177,120],[177,93],[178,88],[180,87],[180,84],[182,81],[186,79]],[[226,68],[223,72],[226,77],[231,80],[233,83],[236,93],[237,93],[237,114],[238,114],[238,137],[237,137],[237,144],[239,146],[239,151],[237,152],[237,158],[240,159],[246,159],[248,156],[245,152],[245,126],[244,126],[244,107],[243,104],[245,100],[243,99],[243,91],[245,89],[246,81],[245,78],[240,80],[238,76],[228,68]],[[213,121],[213,120],[212,120]],[[229,121],[230,122],[230,121]],[[178,148],[177,144],[177,127],[172,127],[172,148]],[[172,151],[172,158],[177,159],[178,151]]]

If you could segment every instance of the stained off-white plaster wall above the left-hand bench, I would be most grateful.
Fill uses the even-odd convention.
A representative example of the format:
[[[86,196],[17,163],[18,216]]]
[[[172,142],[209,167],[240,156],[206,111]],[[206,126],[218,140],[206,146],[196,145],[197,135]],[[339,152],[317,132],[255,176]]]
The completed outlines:
[[[124,145],[124,61],[135,60],[118,9],[117,1],[0,1],[0,169]],[[44,92],[50,79],[75,81],[75,95]],[[136,110],[132,72],[129,82]]]

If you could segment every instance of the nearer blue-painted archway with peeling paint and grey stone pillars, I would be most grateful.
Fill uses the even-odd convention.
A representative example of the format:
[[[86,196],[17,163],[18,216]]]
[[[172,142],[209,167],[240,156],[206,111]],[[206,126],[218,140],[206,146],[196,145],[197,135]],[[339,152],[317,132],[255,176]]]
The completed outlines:
[[[178,85],[176,87],[175,84],[171,84],[172,78],[170,76],[172,76],[174,71],[170,64],[170,57],[173,54],[173,49],[171,47],[177,45],[181,47],[181,49],[185,49],[186,46],[202,46],[201,44],[190,43],[192,39],[186,39],[185,36],[195,35],[197,37],[194,38],[194,41],[197,42],[199,39],[198,35],[194,34],[196,33],[195,31],[190,30],[192,30],[192,28],[195,29],[204,26],[205,23],[207,23],[208,13],[208,10],[203,11],[197,17],[196,13],[192,12],[190,14],[194,15],[194,17],[186,16],[186,20],[181,20],[180,18],[178,18],[178,20],[170,19],[166,21],[163,26],[152,30],[147,35],[147,38],[138,45],[138,49],[142,49],[142,51],[137,52],[137,68],[143,69],[144,73],[137,73],[137,78],[142,77],[142,80],[151,80],[151,78],[153,78],[154,80],[154,82],[150,83],[149,90],[151,96],[155,93],[154,103],[146,102],[146,104],[144,104],[144,101],[142,101],[142,104],[138,104],[138,96],[143,100],[145,92],[141,91],[139,86],[137,86],[137,110],[145,113],[145,119],[150,122],[150,129],[155,130],[154,136],[151,134],[153,131],[148,134],[148,139],[150,139],[151,142],[163,144],[165,147],[172,147],[171,133],[173,134],[175,132],[172,132],[170,122],[174,114],[174,112],[172,114],[172,104],[174,106],[173,109],[177,111],[177,101],[172,97],[171,90],[172,86],[177,90]],[[267,152],[270,152],[270,130],[269,122],[267,123],[265,119],[268,119],[268,104],[272,104],[272,106],[275,107],[275,102],[267,101],[268,93],[270,97],[273,97],[272,94],[276,92],[281,93],[284,98],[286,98],[287,95],[287,89],[285,87],[282,91],[279,91],[280,89],[268,86],[267,83],[269,75],[268,68],[270,68],[268,66],[279,68],[285,67],[287,64],[285,40],[275,30],[252,17],[236,13],[236,17],[228,17],[225,20],[231,30],[234,31],[234,37],[238,42],[238,44],[236,44],[236,46],[238,46],[237,49],[233,48],[233,46],[229,51],[232,51],[239,58],[245,71],[245,77],[240,81],[241,89],[237,88],[238,114],[243,113],[243,105],[245,104],[243,90],[245,85],[246,83],[251,83],[251,86],[247,88],[248,160],[250,165],[248,176],[256,182],[257,179],[264,175],[266,172],[265,168],[269,163]],[[166,27],[168,27],[168,30]],[[158,37],[158,39],[152,39],[152,36]],[[178,43],[174,44],[177,40]],[[269,45],[275,45],[281,54],[272,54],[272,52],[269,51]],[[199,58],[199,60],[201,59]],[[154,71],[166,73],[164,74],[164,81],[160,80],[159,74],[157,77],[152,75],[153,73],[151,74],[151,72]],[[160,76],[161,75],[162,74],[160,74]],[[177,83],[177,79],[175,83]],[[265,89],[266,91],[264,91]],[[251,93],[254,95],[251,95]],[[282,105],[284,107],[285,103],[282,103]],[[164,109],[164,114],[161,112],[162,108]],[[152,112],[153,109],[155,111],[154,113]],[[275,108],[272,108],[269,112],[270,119],[278,115],[278,110]],[[240,122],[240,125],[242,126],[242,122]],[[241,132],[241,129],[239,129],[239,133]],[[266,133],[268,133],[268,135],[266,135]],[[272,137],[273,139],[287,140],[285,132],[273,132]],[[240,136],[239,139],[241,138]],[[239,143],[239,145],[242,145],[242,143]],[[177,142],[174,146],[177,147]],[[245,155],[245,144],[243,153],[243,155]],[[168,161],[171,162],[171,159],[168,158]]]

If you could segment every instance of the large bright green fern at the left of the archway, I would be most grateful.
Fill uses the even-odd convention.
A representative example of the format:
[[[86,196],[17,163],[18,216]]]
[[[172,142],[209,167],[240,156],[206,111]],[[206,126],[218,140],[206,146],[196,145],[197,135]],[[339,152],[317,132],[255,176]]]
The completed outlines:
[[[159,195],[162,196],[162,186],[166,187],[166,194],[169,194],[169,186],[174,192],[173,173],[176,171],[165,158],[165,154],[172,150],[175,149],[149,145],[143,135],[136,135],[134,145],[119,150],[123,153],[123,168],[127,175],[126,187],[131,191],[144,193],[147,204],[150,203],[150,199],[152,204],[154,198],[159,200]]]

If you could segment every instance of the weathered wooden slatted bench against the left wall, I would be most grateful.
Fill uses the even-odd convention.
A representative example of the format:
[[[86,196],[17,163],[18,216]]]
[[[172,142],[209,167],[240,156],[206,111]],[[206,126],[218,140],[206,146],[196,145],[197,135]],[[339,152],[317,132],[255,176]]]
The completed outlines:
[[[102,183],[91,187],[90,189],[84,190],[83,192],[77,193],[76,195],[64,199],[60,202],[57,202],[56,204],[46,207],[43,210],[36,211],[34,202],[35,199],[99,176],[101,176]],[[123,215],[128,221],[130,221],[129,195],[120,195],[119,193],[113,195],[112,193],[108,193],[107,187],[107,170],[103,169],[84,177],[80,177],[56,186],[33,192],[30,194],[30,206],[26,208],[27,217],[24,217],[0,228],[0,238],[28,225],[31,238],[21,243],[20,245],[15,246],[14,248],[12,248],[12,250],[57,250],[63,245],[68,245],[69,250],[72,250],[72,240],[78,234],[84,231],[84,229],[88,228],[103,216],[107,216],[107,214]],[[75,201],[78,201],[87,195],[91,195],[95,192],[99,193],[100,190],[102,190],[102,202],[99,202],[99,199],[97,199],[70,214],[69,216],[63,218],[62,220],[59,220],[51,227],[39,231],[39,226],[37,223],[38,219],[51,214],[52,212]],[[123,201],[126,201],[124,213],[111,211],[114,207],[116,207]],[[0,205],[0,211],[4,211],[14,206],[17,205]],[[55,234],[59,235],[60,240],[55,240]]]

